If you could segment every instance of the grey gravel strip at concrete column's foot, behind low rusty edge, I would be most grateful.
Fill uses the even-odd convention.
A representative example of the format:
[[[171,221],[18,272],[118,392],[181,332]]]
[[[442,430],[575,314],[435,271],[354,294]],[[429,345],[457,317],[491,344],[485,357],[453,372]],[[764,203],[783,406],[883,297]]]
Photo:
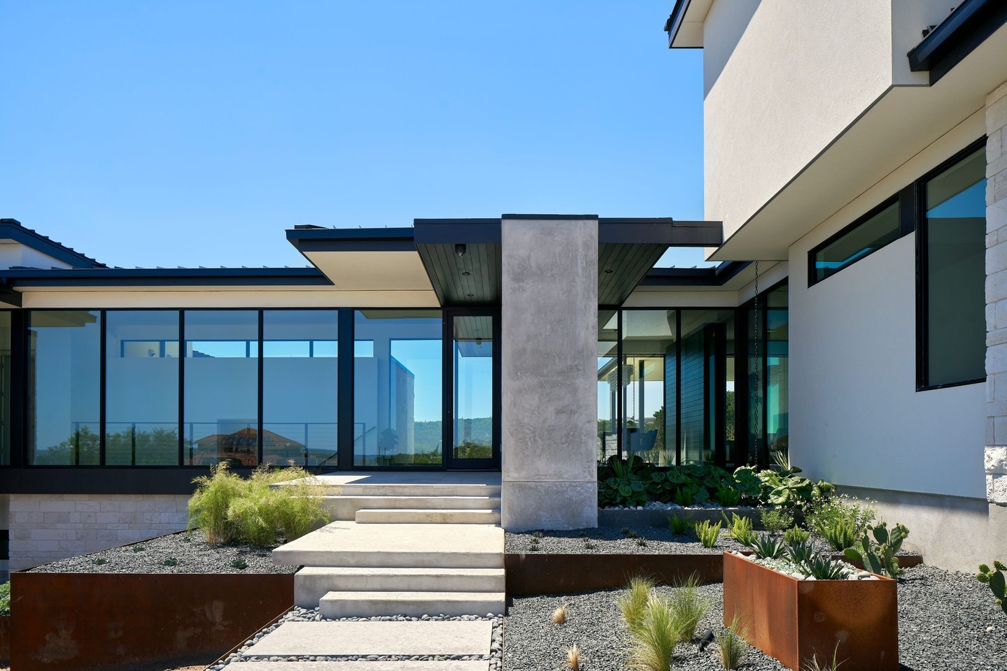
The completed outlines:
[[[761,532],[760,532],[761,533]],[[538,541],[537,543],[534,541]],[[640,543],[642,540],[642,543]],[[829,543],[816,534],[811,541],[822,552],[833,552]],[[720,530],[713,547],[703,547],[692,534],[676,535],[656,526],[599,526],[572,531],[508,532],[505,552],[540,554],[720,554],[724,550],[747,550],[748,547]],[[900,551],[899,554],[914,554]]]

